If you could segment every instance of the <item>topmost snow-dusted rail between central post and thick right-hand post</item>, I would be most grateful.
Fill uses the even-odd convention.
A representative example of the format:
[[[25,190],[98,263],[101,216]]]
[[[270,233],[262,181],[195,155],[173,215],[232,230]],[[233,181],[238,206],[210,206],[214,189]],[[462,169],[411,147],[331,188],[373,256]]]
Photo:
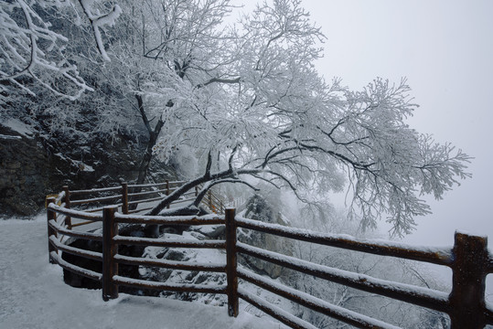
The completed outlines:
[[[236,218],[239,228],[250,228],[279,237],[313,242],[329,247],[350,249],[381,256],[398,257],[407,260],[420,260],[438,265],[452,264],[451,249],[417,248],[403,243],[366,239],[355,239],[344,234],[317,233],[302,228],[287,228],[277,224],[263,223],[258,220]]]

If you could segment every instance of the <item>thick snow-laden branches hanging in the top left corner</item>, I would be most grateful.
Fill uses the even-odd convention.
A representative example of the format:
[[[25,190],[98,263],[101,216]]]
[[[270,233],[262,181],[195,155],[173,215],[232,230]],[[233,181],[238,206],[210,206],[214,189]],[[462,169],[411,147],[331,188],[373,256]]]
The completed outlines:
[[[92,90],[80,77],[77,65],[66,55],[69,38],[56,32],[47,16],[63,7],[80,5],[91,22],[97,48],[109,60],[100,27],[120,15],[114,5],[109,13],[93,14],[94,0],[7,0],[0,3],[0,104],[19,90],[36,96],[41,86],[71,101]]]

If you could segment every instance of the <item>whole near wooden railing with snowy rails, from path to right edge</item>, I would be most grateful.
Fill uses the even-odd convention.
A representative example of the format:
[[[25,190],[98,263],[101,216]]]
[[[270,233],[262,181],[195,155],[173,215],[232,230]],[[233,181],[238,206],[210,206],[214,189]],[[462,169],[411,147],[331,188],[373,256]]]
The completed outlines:
[[[296,291],[278,281],[266,279],[258,274],[238,267],[239,254],[249,255],[300,271],[327,281],[334,281],[364,292],[373,292],[395,300],[410,302],[450,316],[452,329],[483,328],[493,324],[493,311],[485,302],[485,280],[493,272],[493,258],[488,253],[487,239],[455,233],[455,245],[448,249],[417,248],[397,242],[378,242],[348,238],[346,235],[322,234],[305,229],[287,228],[247,218],[235,216],[234,209],[227,209],[225,215],[205,217],[148,217],[118,213],[118,207],[104,207],[102,214],[77,211],[66,207],[62,202],[64,192],[47,199],[48,204],[48,249],[49,261],[58,263],[67,271],[96,281],[102,281],[102,298],[107,301],[118,296],[118,286],[153,289],[175,292],[210,292],[228,296],[228,313],[237,316],[239,299],[249,302],[263,312],[293,328],[315,328],[312,324],[259,298],[239,284],[239,279],[248,281],[269,292],[273,292],[292,302],[296,302],[318,313],[338,319],[359,328],[396,328],[366,315],[355,313],[333,305],[327,301]],[[102,234],[78,232],[68,228],[67,218],[102,221]],[[118,235],[119,224],[156,225],[225,225],[225,240],[173,240],[123,237]],[[384,281],[350,271],[342,271],[318,265],[273,251],[259,249],[237,241],[237,228],[248,228],[278,237],[307,241],[319,245],[341,249],[357,250],[370,254],[419,260],[447,266],[453,271],[452,292],[439,292],[428,288]],[[102,241],[102,252],[76,249],[62,243],[60,236]],[[226,259],[220,264],[190,263],[171,260],[149,260],[123,256],[118,253],[119,245],[141,245],[174,248],[225,249]],[[62,260],[59,251],[75,254],[91,260],[102,261],[102,271],[90,271]],[[226,285],[177,284],[156,281],[143,281],[119,275],[118,264],[160,267],[186,271],[215,271],[225,273]]]

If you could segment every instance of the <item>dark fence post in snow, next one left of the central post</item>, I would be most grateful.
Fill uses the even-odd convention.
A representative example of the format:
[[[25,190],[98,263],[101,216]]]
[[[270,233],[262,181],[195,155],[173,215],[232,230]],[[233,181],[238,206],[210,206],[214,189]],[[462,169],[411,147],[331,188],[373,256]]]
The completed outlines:
[[[118,297],[118,285],[113,282],[113,276],[118,275],[118,263],[114,261],[118,244],[113,241],[118,235],[118,224],[114,220],[117,209],[108,206],[102,210],[102,299],[105,302]]]

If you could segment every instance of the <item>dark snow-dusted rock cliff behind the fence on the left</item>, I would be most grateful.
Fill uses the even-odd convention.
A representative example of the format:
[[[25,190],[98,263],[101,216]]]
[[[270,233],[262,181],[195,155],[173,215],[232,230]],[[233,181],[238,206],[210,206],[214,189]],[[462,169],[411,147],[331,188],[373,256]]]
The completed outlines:
[[[3,122],[2,122],[3,123]],[[10,122],[12,123],[12,122]],[[62,186],[85,189],[132,182],[145,144],[117,135],[82,140],[37,133],[0,124],[0,216],[31,216],[44,207],[45,197]],[[15,125],[14,125],[15,126]],[[16,129],[17,128],[17,129]],[[174,168],[151,164],[151,179],[175,179]]]

